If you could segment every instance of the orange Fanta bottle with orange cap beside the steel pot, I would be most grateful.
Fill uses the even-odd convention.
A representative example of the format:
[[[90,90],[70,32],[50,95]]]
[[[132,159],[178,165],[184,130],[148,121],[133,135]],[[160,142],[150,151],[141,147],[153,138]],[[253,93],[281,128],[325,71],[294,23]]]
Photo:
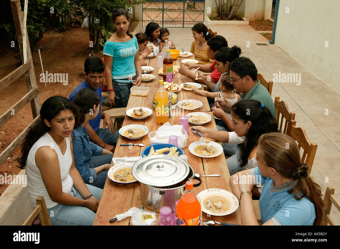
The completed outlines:
[[[193,183],[187,181],[185,188],[176,208],[176,226],[200,226],[202,224],[201,204],[193,193]]]

